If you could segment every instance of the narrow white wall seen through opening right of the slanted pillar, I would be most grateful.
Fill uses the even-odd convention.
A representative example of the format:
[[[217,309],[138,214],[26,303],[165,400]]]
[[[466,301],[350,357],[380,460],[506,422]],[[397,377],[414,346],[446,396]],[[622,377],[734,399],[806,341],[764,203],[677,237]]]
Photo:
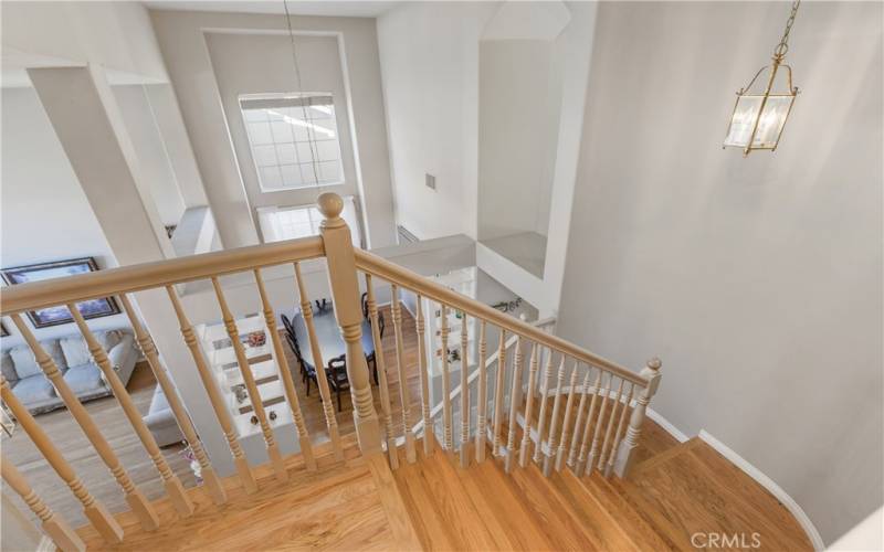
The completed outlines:
[[[160,220],[166,226],[178,224],[185,212],[185,200],[178,189],[178,181],[145,86],[122,85],[114,86],[113,91],[138,156],[141,178],[157,204]]]

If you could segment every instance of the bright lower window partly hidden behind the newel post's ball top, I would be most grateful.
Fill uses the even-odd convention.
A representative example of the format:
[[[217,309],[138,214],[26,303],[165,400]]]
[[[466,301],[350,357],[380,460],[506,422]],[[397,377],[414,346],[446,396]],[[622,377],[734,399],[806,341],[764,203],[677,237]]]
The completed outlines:
[[[344,198],[344,211],[340,216],[350,227],[354,246],[361,247],[362,234],[359,231],[352,195]],[[323,214],[313,205],[270,206],[257,210],[257,223],[264,235],[264,243],[317,235],[323,219]]]

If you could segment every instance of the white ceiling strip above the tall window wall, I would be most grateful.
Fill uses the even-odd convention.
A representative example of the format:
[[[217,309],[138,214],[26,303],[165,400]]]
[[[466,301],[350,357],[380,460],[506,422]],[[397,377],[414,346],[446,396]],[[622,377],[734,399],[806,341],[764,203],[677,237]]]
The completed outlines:
[[[338,18],[377,18],[399,2],[396,1],[301,1],[287,0],[293,15],[327,15]],[[285,14],[283,0],[146,0],[151,10],[217,11],[239,13]]]

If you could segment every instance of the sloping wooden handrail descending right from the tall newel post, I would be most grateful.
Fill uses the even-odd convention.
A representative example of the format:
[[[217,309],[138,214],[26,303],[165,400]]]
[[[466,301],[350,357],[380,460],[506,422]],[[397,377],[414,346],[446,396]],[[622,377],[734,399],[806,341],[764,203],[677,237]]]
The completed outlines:
[[[448,287],[432,282],[417,273],[402,268],[399,265],[390,263],[377,255],[367,251],[356,250],[356,266],[357,268],[370,273],[375,276],[386,279],[391,284],[398,284],[402,287],[417,291],[430,299],[438,302],[443,302],[450,307],[463,310],[467,315],[484,319],[494,323],[499,328],[504,328],[513,333],[529,339],[536,343],[544,344],[557,352],[565,353],[572,359],[585,364],[601,368],[608,372],[615,374],[619,378],[636,383],[641,386],[648,385],[648,380],[628,368],[610,361],[606,358],[599,357],[582,347],[576,346],[566,341],[557,336],[546,333],[543,330],[523,322],[517,318],[501,312],[499,310],[471,299],[464,295],[459,294]]]

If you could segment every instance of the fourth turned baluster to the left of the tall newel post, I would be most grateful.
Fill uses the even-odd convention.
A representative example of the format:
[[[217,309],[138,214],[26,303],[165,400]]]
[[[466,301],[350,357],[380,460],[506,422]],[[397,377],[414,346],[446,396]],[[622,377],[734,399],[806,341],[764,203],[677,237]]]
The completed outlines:
[[[175,309],[175,315],[178,317],[178,326],[180,327],[181,336],[185,338],[185,343],[187,343],[190,355],[193,358],[193,363],[197,365],[197,373],[200,375],[200,381],[202,381],[202,386],[206,389],[206,394],[209,395],[209,402],[212,404],[218,424],[224,433],[228,447],[233,456],[233,464],[236,467],[236,474],[240,476],[245,492],[255,492],[257,490],[257,482],[255,481],[254,474],[252,474],[252,468],[249,466],[249,459],[242,452],[240,439],[233,431],[233,422],[230,418],[227,402],[221,396],[221,391],[218,389],[218,382],[214,375],[212,375],[212,372],[206,364],[206,357],[202,353],[202,349],[200,349],[200,343],[197,339],[197,335],[193,332],[193,327],[190,325],[190,320],[188,320],[185,314],[185,309],[181,306],[181,301],[178,299],[178,293],[175,288],[172,286],[166,286],[166,293],[168,293],[169,300]]]

